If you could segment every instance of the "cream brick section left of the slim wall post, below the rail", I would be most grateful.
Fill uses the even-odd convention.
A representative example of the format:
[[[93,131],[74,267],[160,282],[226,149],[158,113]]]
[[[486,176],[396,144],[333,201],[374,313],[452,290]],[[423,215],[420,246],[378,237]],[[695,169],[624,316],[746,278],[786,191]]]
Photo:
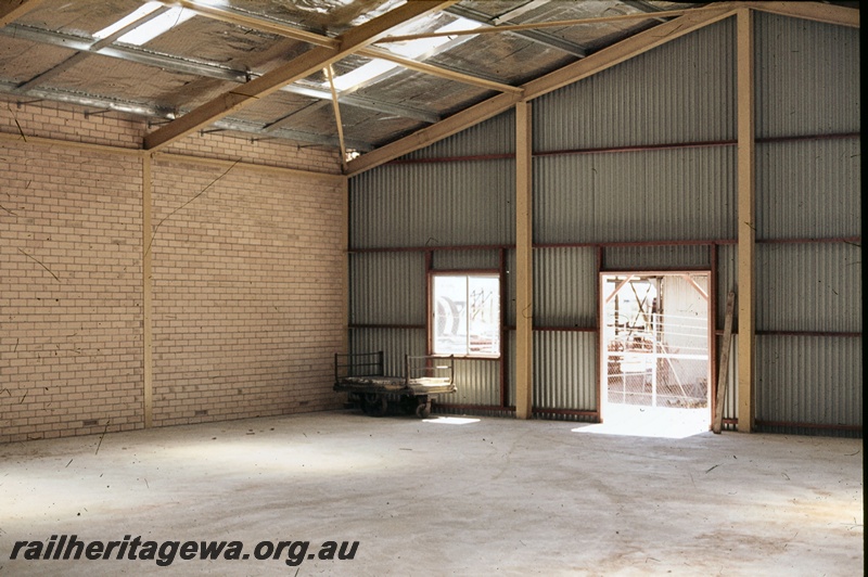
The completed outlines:
[[[0,440],[141,422],[141,164],[0,142]]]

